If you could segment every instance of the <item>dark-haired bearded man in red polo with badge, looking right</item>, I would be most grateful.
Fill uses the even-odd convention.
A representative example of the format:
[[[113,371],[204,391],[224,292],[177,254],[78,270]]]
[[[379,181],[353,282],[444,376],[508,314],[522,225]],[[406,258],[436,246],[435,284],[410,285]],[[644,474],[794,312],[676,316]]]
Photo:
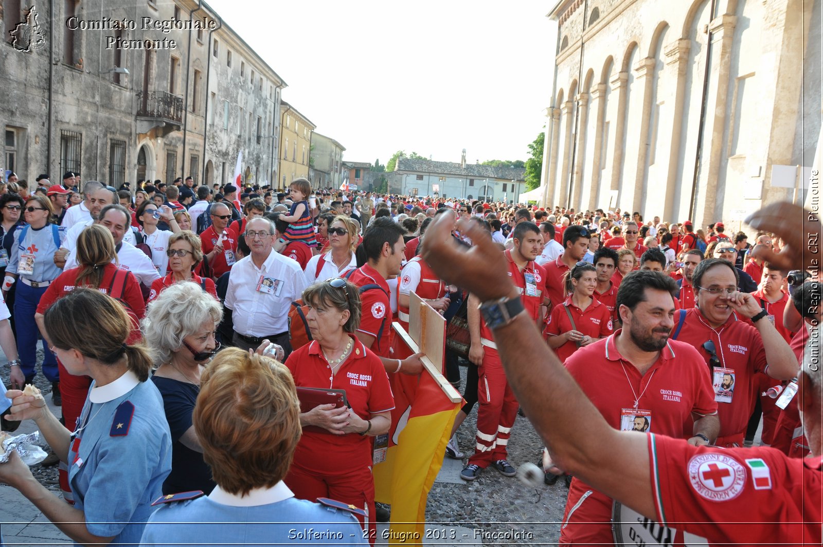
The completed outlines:
[[[690,344],[669,340],[675,305],[672,278],[651,270],[625,277],[617,293],[623,328],[574,352],[565,367],[612,428],[714,442],[720,428],[709,375]],[[572,480],[560,543],[611,543],[612,500]]]

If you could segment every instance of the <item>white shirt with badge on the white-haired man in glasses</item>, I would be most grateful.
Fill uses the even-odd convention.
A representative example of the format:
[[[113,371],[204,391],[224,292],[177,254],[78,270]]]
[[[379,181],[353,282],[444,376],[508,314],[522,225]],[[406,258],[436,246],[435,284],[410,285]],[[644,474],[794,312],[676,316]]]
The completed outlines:
[[[263,279],[271,280],[273,294],[258,290]],[[231,267],[224,304],[232,311],[239,334],[254,338],[281,334],[289,330],[291,302],[302,297],[305,287],[300,264],[270,250],[263,268],[258,268],[250,255]]]

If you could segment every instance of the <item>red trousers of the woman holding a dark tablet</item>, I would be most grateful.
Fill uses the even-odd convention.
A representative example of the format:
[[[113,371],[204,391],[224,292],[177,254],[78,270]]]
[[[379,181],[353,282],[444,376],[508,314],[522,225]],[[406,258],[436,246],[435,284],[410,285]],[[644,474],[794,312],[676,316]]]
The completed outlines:
[[[332,458],[333,460],[333,458]],[[369,519],[369,542],[374,545],[377,538],[377,521],[374,520],[374,478],[369,465],[340,465],[339,469],[309,469],[300,465],[300,459],[291,462],[286,475],[286,486],[295,493],[295,498],[316,502],[317,498],[331,498],[365,508]],[[357,517],[364,525],[362,517]]]

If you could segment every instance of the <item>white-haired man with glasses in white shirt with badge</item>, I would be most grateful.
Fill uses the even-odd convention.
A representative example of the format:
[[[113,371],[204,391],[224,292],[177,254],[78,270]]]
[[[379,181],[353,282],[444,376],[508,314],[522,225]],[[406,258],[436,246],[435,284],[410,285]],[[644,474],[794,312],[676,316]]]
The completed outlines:
[[[274,226],[268,219],[251,219],[244,237],[251,255],[232,266],[224,302],[232,311],[235,345],[256,349],[267,338],[288,354],[289,310],[306,286],[303,270],[272,249]]]

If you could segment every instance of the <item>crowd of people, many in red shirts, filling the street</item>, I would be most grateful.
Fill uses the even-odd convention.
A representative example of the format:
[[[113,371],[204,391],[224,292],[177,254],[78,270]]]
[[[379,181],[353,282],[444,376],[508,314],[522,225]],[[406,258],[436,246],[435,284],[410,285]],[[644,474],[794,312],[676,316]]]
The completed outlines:
[[[546,441],[546,484],[563,477],[569,487],[561,542],[611,542],[613,500],[661,523],[704,521],[695,507],[673,507],[669,486],[691,489],[695,505],[705,492],[715,502],[760,495],[737,484],[744,465],[755,473],[751,458],[772,470],[769,489],[805,480],[818,494],[816,513],[795,521],[819,539],[820,423],[801,421],[819,404],[788,395],[820,389],[819,374],[800,367],[821,311],[808,305],[819,282],[797,258],[799,209],[797,226],[749,222],[761,230],[751,245],[723,222],[695,229],[620,209],[313,189],[305,179],[288,189],[198,187],[192,177],[130,186],[81,184],[72,172],[57,185],[41,175],[31,193],[16,176],[0,185],[0,347],[11,367],[2,425],[35,420],[65,502],[16,456],[0,480],[72,540],[251,541],[284,537],[290,519],[328,522],[332,535],[314,538],[323,543],[374,540],[388,507],[374,503],[369,437],[391,426],[389,378],[422,370],[391,328],[408,325],[411,292],[463,331],[444,359],[465,401],[445,455],[465,461],[467,481],[490,466],[513,477],[521,409]],[[23,391],[38,364],[62,416],[48,393]],[[456,432],[475,404],[464,453]],[[753,446],[761,423],[760,445],[774,449]],[[650,452],[636,432],[649,433]],[[625,484],[606,474],[618,469],[607,454],[636,458]],[[678,472],[694,461],[689,483]],[[649,475],[663,465],[665,475]],[[177,521],[202,526],[189,536]],[[703,535],[750,534],[715,528]]]

